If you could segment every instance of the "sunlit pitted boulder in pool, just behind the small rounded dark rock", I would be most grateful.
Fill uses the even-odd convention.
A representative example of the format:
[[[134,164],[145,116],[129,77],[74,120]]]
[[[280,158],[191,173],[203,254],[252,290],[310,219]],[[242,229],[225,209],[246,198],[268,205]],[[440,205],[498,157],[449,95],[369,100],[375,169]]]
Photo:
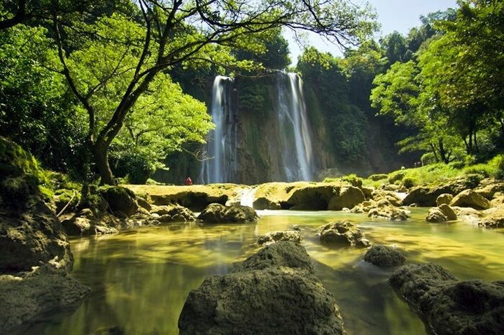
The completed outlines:
[[[364,234],[349,221],[324,224],[317,229],[321,243],[331,246],[367,248],[371,245]]]

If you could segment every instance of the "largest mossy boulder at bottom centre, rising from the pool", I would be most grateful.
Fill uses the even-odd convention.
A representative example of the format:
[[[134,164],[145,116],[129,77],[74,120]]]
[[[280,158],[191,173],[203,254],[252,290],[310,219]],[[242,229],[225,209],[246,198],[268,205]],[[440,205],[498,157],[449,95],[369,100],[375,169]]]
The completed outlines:
[[[344,334],[332,294],[314,276],[306,250],[269,245],[225,276],[189,293],[180,334]]]

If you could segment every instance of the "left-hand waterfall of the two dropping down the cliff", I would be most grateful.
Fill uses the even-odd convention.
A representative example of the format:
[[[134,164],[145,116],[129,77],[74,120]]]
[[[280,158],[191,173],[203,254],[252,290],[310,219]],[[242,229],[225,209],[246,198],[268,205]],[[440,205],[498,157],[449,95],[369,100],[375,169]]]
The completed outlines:
[[[202,164],[202,183],[229,183],[237,169],[237,120],[231,109],[232,79],[216,76],[212,87],[211,116],[216,129],[207,137],[207,157]]]

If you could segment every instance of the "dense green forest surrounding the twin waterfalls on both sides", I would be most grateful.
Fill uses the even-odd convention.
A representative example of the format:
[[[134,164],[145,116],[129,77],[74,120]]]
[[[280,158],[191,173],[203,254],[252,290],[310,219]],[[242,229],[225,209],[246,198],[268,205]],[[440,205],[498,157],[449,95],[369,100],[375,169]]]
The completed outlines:
[[[419,161],[474,164],[503,150],[500,1],[461,1],[421,17],[407,36],[379,39],[372,39],[378,24],[370,8],[346,8],[339,20],[350,23],[339,31],[330,27],[330,14],[316,24],[309,17],[290,22],[296,14],[288,6],[267,17],[265,8],[231,3],[214,13],[186,13],[177,2],[171,11],[138,5],[5,3],[1,134],[76,180],[145,183],[165,166],[182,166],[183,175],[188,157],[205,159],[198,143],[214,127],[207,113],[211,78],[241,80],[241,101],[260,115],[264,78],[288,69],[302,76],[307,99],[318,101],[312,109],[322,119],[314,124],[326,128],[318,140],[347,168],[378,153],[386,162],[367,173]],[[235,20],[224,20],[228,14]],[[197,15],[212,29],[177,15]],[[281,27],[325,34],[344,56],[308,47],[292,68]]]

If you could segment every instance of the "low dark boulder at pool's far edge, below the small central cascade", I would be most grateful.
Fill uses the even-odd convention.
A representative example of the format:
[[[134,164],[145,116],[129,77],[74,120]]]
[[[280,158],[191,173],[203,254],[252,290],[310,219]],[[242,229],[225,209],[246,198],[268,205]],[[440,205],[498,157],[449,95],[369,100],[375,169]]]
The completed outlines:
[[[248,223],[256,222],[258,215],[248,206],[209,204],[197,218],[205,223]]]

